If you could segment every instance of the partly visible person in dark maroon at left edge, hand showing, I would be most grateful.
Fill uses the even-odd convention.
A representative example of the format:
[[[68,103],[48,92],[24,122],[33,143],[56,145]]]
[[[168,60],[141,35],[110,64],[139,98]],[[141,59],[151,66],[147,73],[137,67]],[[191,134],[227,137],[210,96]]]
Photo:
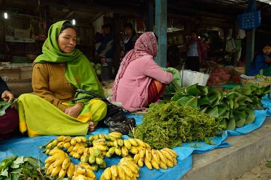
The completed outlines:
[[[14,96],[8,89],[6,82],[0,77],[0,101],[8,101],[13,102]],[[5,108],[6,109],[6,108]],[[4,110],[4,109],[1,109]],[[12,134],[17,131],[19,127],[19,116],[18,111],[15,108],[11,108],[9,106],[5,113],[1,113],[0,115],[0,140],[7,139],[12,136]]]

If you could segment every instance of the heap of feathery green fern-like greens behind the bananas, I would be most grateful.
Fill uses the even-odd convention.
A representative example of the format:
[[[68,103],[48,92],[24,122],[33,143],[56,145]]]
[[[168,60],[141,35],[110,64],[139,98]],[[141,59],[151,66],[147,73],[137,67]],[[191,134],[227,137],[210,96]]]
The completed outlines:
[[[153,148],[182,146],[182,142],[203,141],[224,129],[215,118],[177,102],[151,104],[134,136]]]

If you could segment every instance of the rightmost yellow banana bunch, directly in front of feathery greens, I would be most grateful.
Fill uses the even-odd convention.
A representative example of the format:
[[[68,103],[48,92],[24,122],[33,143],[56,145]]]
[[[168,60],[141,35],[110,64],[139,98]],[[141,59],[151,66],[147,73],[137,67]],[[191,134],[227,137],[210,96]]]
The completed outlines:
[[[146,165],[149,169],[168,169],[177,165],[177,153],[170,148],[154,150],[151,148],[141,148],[139,153],[134,155],[134,161],[139,167]]]

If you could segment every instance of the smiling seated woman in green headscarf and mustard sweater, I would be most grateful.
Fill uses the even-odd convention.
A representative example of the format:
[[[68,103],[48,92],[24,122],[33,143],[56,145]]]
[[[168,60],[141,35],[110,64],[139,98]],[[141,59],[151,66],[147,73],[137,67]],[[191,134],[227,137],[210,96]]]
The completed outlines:
[[[18,98],[20,131],[28,136],[85,135],[106,116],[106,103],[99,99],[77,101],[76,89],[104,96],[103,89],[86,56],[75,49],[77,33],[70,21],[51,25],[42,46],[43,54],[34,60],[34,94]],[[78,94],[77,97],[86,96]]]

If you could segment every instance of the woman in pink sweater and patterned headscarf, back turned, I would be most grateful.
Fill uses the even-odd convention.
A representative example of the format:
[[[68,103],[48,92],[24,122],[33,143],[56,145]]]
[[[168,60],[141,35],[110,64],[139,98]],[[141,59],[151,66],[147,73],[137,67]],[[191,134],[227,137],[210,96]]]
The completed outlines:
[[[146,110],[155,103],[172,81],[172,74],[165,72],[153,60],[157,54],[157,37],[145,32],[137,39],[120,64],[113,84],[113,101],[122,103],[129,111]]]

